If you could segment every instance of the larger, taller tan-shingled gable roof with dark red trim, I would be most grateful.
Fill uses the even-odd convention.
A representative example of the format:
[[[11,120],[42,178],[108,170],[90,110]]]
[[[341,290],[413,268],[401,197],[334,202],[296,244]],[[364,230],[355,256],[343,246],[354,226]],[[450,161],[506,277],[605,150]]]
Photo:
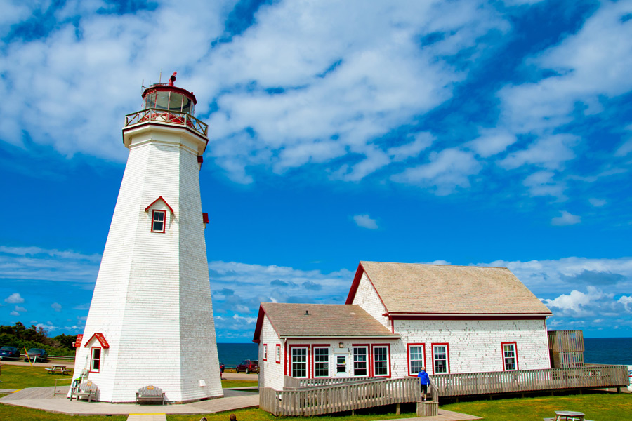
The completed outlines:
[[[389,315],[552,314],[506,267],[360,262],[347,304],[363,273]]]

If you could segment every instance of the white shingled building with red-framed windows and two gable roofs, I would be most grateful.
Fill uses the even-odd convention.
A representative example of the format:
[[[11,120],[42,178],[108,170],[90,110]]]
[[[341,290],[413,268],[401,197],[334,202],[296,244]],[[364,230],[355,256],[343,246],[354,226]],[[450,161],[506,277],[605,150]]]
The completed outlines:
[[[504,267],[360,262],[344,305],[261,303],[259,386],[551,368],[551,315]]]

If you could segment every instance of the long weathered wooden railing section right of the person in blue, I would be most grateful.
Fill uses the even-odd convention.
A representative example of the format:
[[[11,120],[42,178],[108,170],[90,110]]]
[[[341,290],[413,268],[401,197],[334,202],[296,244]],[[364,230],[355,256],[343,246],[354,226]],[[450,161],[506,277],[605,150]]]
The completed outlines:
[[[628,385],[626,366],[583,366],[544,370],[434,375],[440,396],[463,396]]]

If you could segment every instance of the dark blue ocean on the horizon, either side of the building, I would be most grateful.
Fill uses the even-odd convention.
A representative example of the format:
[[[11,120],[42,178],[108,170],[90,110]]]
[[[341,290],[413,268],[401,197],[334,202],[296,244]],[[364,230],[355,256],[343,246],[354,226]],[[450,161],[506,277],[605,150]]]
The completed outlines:
[[[584,348],[585,363],[632,365],[632,338],[584,338]],[[217,352],[220,361],[227,367],[235,367],[244,359],[258,359],[258,345],[255,343],[220,343],[217,344]]]

